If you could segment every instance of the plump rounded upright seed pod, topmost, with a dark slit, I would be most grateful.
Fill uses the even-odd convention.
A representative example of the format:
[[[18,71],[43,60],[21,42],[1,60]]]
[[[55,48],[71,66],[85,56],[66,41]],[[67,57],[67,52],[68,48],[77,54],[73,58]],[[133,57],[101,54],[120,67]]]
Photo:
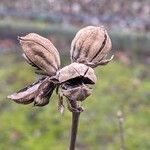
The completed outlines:
[[[104,27],[88,26],[77,32],[71,44],[72,62],[101,64],[111,50],[111,40]],[[106,63],[106,62],[105,62]],[[103,62],[102,62],[103,64]]]

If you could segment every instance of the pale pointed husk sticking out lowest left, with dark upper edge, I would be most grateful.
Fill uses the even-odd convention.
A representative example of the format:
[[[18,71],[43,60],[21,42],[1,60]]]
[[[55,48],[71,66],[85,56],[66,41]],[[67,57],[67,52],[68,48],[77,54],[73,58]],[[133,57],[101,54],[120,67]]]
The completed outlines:
[[[34,97],[42,81],[43,79],[40,79],[37,82],[21,89],[20,91],[12,95],[8,95],[7,98],[12,99],[16,103],[30,104],[34,101]]]

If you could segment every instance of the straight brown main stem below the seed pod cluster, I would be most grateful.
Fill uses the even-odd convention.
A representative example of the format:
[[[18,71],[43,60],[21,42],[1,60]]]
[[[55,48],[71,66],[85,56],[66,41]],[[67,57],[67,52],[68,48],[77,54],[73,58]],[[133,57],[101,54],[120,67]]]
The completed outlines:
[[[75,150],[80,112],[72,112],[72,127],[69,150]]]

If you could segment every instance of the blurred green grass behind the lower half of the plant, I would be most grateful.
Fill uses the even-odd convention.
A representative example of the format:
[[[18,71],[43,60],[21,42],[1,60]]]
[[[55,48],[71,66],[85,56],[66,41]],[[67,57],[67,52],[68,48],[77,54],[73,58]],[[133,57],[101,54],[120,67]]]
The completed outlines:
[[[71,114],[57,111],[57,96],[49,105],[38,108],[19,105],[6,95],[35,80],[31,67],[13,55],[3,56],[0,69],[0,149],[66,150],[69,144]],[[14,63],[15,62],[15,63]],[[117,111],[124,114],[127,149],[148,150],[149,74],[142,64],[125,66],[112,62],[96,70],[98,81],[85,102],[80,118],[77,147],[80,150],[120,148]]]

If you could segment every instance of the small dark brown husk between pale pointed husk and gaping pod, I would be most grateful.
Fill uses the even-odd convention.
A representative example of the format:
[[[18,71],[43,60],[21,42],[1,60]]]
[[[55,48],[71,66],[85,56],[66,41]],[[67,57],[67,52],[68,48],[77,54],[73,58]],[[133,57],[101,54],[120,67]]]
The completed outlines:
[[[45,106],[49,103],[49,99],[56,87],[56,84],[47,77],[39,86],[35,99],[34,106]]]

